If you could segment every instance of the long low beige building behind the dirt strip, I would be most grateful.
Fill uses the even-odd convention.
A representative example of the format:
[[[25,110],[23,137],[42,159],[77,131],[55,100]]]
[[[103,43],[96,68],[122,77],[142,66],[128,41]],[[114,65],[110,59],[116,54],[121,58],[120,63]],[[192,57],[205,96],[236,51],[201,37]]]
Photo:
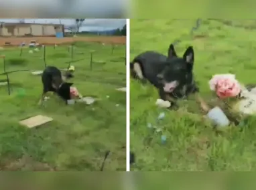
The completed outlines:
[[[64,25],[39,23],[0,23],[0,37],[64,37]]]

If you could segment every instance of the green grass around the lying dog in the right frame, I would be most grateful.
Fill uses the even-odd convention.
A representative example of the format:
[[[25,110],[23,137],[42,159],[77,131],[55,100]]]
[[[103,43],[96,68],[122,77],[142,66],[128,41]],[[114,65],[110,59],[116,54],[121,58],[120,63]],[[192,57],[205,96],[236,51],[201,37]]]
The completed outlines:
[[[182,56],[188,45],[194,46],[194,75],[200,94],[206,101],[213,95],[208,81],[217,73],[234,73],[244,84],[256,84],[255,20],[203,19],[194,37],[190,30],[195,20],[131,19],[131,60],[146,50],[167,54],[170,43]],[[155,106],[157,91],[131,79],[131,151],[137,162],[133,171],[255,171],[256,120],[247,125],[231,126],[216,134],[212,125],[203,121],[194,97],[179,101],[178,111]],[[165,113],[162,120],[157,117]],[[161,129],[147,127],[147,123]],[[166,135],[162,143],[161,135]]]

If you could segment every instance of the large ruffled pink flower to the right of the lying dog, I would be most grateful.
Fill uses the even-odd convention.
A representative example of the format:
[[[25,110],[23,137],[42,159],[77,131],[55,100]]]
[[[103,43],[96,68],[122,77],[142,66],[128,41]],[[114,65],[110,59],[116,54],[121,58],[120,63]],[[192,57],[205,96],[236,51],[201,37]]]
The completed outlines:
[[[236,97],[241,92],[241,85],[235,79],[235,75],[214,75],[209,82],[210,89],[216,91],[221,99]]]

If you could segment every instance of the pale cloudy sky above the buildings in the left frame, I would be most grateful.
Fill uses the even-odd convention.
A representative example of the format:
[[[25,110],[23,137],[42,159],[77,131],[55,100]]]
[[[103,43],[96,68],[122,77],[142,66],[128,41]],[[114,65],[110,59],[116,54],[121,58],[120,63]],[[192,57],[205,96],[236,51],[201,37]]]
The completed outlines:
[[[61,23],[66,26],[75,24],[74,19],[25,19],[25,23]],[[0,19],[0,22],[17,23],[19,19]],[[108,30],[122,28],[126,19],[85,19],[80,31]]]

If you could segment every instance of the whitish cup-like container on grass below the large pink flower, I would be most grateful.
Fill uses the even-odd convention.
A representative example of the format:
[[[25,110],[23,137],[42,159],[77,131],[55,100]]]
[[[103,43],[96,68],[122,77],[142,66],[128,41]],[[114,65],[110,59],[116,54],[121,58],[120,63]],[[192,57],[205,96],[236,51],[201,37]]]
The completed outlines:
[[[212,108],[208,113],[207,117],[212,120],[219,127],[226,127],[229,125],[230,121],[225,115],[225,113],[219,107]]]

